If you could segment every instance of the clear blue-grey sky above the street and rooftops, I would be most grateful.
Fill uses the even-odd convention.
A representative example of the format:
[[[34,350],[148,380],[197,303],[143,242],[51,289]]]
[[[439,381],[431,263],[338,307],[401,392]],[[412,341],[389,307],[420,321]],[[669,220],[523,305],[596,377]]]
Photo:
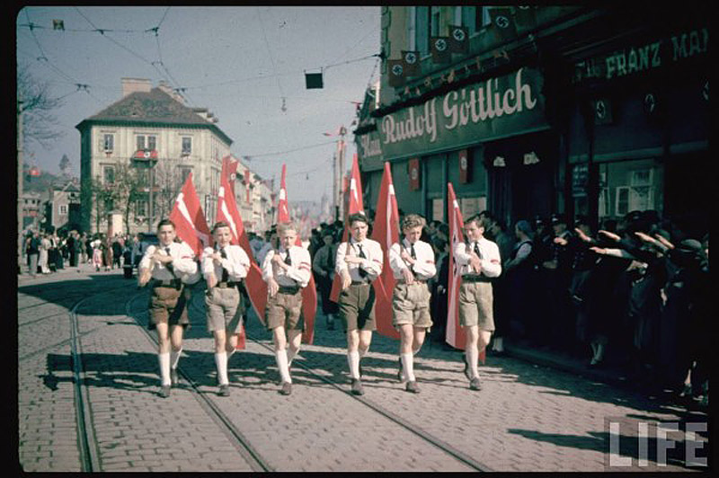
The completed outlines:
[[[53,20],[65,30],[53,30]],[[213,112],[232,154],[251,156],[263,178],[279,186],[286,163],[290,201],[331,196],[337,137],[323,133],[350,130],[349,169],[353,102],[379,75],[377,58],[366,58],[379,53],[379,23],[379,6],[24,7],[15,20],[18,64],[64,97],[55,111],[63,137],[50,150],[29,145],[25,162],[58,173],[67,155],[79,176],[75,125],[120,100],[120,78],[147,78],[183,88],[189,106]],[[306,90],[305,72],[320,68],[324,88]]]

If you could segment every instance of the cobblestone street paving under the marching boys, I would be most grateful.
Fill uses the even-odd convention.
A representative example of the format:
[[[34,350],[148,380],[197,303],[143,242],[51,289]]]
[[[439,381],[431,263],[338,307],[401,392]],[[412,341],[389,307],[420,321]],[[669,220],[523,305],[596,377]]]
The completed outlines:
[[[202,290],[196,288],[180,360],[181,385],[170,398],[160,398],[156,346],[135,320],[146,323],[148,291],[134,283],[122,279],[121,270],[70,270],[19,281],[18,456],[24,471],[80,470],[67,315],[79,300],[73,298],[78,289],[87,291],[77,313],[102,471],[253,470],[185,377],[274,471],[475,471],[348,393],[342,327],[325,330],[321,310],[315,343],[303,344],[293,363],[291,395],[279,394],[271,334],[250,313],[247,332],[255,341],[248,340],[247,349],[230,360],[231,394],[219,397],[213,341]],[[94,295],[103,288],[119,289]],[[42,297],[52,304],[41,305]],[[489,470],[690,470],[677,461],[683,456],[683,433],[669,435],[677,439],[669,465],[656,464],[650,439],[649,462],[640,466],[636,423],[706,421],[706,414],[511,357],[489,357],[480,367],[483,389],[473,392],[462,374],[461,352],[429,342],[415,357],[421,393],[408,394],[396,380],[398,346],[373,334],[362,359],[362,400]],[[608,417],[622,422],[621,450],[632,457],[631,467],[608,468]],[[697,440],[708,446],[706,434]]]

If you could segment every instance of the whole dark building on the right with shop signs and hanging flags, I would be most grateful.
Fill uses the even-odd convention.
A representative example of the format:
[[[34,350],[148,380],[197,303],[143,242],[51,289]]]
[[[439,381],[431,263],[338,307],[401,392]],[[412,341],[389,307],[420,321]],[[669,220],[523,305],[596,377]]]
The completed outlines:
[[[399,208],[430,220],[447,220],[448,182],[465,216],[488,209],[505,224],[705,215],[686,205],[705,204],[708,188],[680,184],[706,178],[706,18],[699,7],[383,7],[381,77],[353,131],[365,204],[389,162]]]

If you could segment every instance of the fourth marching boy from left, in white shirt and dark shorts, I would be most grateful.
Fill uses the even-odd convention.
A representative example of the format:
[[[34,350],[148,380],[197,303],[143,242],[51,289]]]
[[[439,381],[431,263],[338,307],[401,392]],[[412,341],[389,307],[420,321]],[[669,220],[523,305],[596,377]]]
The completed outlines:
[[[347,218],[350,240],[337,248],[335,272],[342,278],[338,305],[347,334],[347,361],[350,365],[352,394],[364,394],[359,359],[367,354],[375,323],[375,291],[372,281],[382,273],[384,254],[377,241],[368,239],[368,219],[355,213]]]

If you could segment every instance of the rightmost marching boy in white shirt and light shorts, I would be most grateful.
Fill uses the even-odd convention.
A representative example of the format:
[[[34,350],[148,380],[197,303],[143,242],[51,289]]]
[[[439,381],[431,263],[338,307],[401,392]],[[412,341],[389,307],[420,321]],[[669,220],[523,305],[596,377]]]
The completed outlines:
[[[484,237],[489,219],[476,214],[466,220],[467,243],[457,243],[453,251],[462,285],[459,288],[459,324],[465,328],[465,375],[469,388],[479,390],[477,361],[494,331],[491,278],[502,273],[500,250]]]

